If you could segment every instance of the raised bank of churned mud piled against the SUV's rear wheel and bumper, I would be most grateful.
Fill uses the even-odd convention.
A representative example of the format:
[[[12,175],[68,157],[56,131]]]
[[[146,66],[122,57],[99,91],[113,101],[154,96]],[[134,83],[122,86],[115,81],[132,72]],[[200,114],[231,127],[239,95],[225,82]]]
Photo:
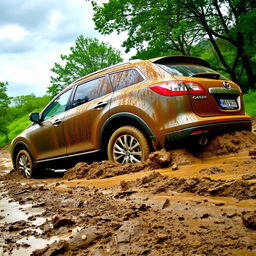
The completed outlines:
[[[256,149],[256,134],[248,131],[234,132],[217,136],[203,148],[203,151],[196,153],[196,155],[185,149],[171,152],[161,150],[150,154],[147,162],[138,164],[121,165],[108,161],[92,164],[78,163],[65,173],[64,179],[104,179],[164,167],[175,170],[178,166],[199,163],[203,158],[253,151],[254,149]],[[254,157],[256,158],[256,156],[251,156],[251,158]]]

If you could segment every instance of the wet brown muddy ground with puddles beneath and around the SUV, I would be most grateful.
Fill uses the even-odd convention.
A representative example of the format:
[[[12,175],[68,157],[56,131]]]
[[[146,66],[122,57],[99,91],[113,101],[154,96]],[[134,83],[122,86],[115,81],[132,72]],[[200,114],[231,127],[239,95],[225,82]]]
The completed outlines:
[[[0,255],[256,255],[255,133],[31,180],[0,159]]]

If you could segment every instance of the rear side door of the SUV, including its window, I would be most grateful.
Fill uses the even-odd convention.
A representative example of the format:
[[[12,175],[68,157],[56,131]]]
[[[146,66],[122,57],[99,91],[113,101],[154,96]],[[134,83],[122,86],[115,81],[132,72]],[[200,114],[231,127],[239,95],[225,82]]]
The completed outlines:
[[[64,123],[68,155],[99,148],[100,130],[109,117],[111,97],[112,87],[105,76],[77,85]]]

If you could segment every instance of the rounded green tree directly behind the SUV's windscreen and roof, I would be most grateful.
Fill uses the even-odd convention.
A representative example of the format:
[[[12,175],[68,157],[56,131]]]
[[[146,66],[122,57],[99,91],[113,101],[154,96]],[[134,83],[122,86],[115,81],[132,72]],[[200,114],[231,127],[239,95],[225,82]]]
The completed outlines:
[[[63,66],[55,63],[51,69],[56,76],[51,77],[52,86],[48,87],[47,93],[52,97],[76,79],[122,61],[118,50],[83,35],[76,39],[70,51],[69,55],[61,55],[65,62]]]

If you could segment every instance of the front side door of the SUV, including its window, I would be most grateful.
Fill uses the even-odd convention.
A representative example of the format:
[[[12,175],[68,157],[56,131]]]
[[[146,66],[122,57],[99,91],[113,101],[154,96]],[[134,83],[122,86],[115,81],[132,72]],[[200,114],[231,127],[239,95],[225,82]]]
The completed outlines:
[[[52,101],[42,112],[42,121],[33,125],[29,140],[36,160],[66,155],[63,126],[71,91],[63,92]]]

